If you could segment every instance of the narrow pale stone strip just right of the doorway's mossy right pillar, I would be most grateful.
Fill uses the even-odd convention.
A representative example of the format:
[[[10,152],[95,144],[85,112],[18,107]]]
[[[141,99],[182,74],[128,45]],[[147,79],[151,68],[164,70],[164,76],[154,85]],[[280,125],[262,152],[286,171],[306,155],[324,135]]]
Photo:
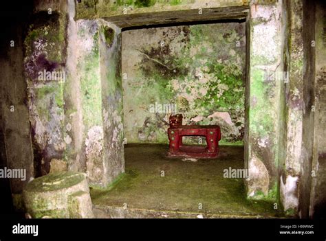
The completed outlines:
[[[283,71],[288,78],[280,84],[279,200],[285,211],[298,209],[298,176],[301,173],[303,138],[303,36],[302,1],[284,1]],[[286,148],[284,148],[286,147]],[[295,183],[287,181],[296,179]]]

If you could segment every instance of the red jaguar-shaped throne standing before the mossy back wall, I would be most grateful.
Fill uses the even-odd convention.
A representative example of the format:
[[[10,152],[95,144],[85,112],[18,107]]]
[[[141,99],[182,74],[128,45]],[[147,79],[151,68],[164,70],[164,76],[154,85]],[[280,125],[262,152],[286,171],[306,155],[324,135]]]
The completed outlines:
[[[170,141],[168,157],[216,158],[219,154],[221,139],[219,126],[183,126],[181,114],[171,115],[168,136]],[[184,146],[182,144],[184,136],[205,137],[207,146]]]

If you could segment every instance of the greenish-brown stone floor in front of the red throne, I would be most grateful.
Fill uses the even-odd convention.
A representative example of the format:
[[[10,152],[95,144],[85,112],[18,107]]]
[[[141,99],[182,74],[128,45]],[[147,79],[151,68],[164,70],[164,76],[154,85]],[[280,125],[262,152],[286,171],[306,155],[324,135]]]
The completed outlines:
[[[243,168],[242,146],[221,146],[217,159],[166,157],[167,145],[126,146],[126,173],[107,190],[91,188],[98,218],[274,218],[273,203],[246,200],[243,179],[224,178]]]

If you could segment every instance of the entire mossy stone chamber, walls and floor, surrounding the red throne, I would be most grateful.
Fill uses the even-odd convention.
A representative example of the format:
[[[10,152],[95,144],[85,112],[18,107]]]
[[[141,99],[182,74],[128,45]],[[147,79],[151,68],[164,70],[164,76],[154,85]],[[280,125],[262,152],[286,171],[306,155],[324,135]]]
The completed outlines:
[[[323,1],[34,0],[8,10],[1,216],[325,217]],[[168,158],[171,113],[219,125],[218,157]]]

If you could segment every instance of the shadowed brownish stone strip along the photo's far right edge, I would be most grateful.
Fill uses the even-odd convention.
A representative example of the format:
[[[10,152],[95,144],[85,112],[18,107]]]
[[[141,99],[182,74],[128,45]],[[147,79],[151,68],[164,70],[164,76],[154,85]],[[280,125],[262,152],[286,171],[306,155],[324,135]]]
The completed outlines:
[[[312,203],[310,216],[326,214],[326,5],[316,3],[316,81]]]

